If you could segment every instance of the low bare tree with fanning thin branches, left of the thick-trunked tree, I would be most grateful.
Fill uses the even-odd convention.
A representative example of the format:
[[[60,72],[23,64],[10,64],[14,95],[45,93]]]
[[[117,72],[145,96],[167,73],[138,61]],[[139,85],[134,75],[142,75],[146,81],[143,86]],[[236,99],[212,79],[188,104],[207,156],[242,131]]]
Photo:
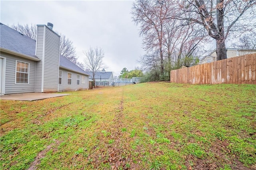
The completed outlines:
[[[186,24],[184,21],[171,19],[164,26],[166,29],[163,43],[164,52],[168,58],[168,63],[174,69],[181,67],[183,63],[180,61],[184,57],[196,57],[200,51],[198,47],[202,42],[207,41],[204,30],[195,24]]]

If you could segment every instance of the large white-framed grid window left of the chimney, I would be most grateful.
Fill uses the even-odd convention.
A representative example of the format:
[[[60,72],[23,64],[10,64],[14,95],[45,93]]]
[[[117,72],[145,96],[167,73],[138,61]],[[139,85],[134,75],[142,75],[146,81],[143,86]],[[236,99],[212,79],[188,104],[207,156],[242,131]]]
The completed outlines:
[[[28,84],[29,63],[16,60],[15,83]]]

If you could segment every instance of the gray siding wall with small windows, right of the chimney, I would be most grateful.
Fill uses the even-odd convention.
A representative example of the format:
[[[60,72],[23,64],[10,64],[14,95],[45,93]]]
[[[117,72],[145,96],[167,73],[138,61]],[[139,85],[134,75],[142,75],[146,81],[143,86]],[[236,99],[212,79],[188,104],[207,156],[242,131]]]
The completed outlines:
[[[62,71],[62,84],[59,85],[59,91],[84,90],[89,88],[88,76],[73,71],[60,69]],[[68,85],[68,73],[72,73],[71,85]],[[76,84],[76,77],[80,75],[80,84]],[[85,76],[85,84],[82,84],[82,76]]]

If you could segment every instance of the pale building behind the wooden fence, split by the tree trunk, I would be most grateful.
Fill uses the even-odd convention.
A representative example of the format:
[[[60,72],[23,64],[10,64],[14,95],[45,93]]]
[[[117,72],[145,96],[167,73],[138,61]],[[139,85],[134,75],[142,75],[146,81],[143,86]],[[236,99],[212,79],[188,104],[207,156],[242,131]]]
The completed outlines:
[[[256,49],[236,49],[236,48],[227,48],[227,58],[237,57],[240,55],[256,53]],[[216,49],[213,50],[209,55],[205,55],[200,59],[200,64],[210,63],[216,61],[217,59]]]

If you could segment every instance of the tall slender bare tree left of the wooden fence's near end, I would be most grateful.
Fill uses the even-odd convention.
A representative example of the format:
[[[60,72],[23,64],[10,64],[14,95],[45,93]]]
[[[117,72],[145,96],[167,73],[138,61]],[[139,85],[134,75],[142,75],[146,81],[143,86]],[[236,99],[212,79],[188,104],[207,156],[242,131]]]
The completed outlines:
[[[140,24],[140,35],[143,36],[143,44],[146,50],[155,48],[160,56],[160,72],[164,73],[163,57],[163,25],[168,16],[170,1],[138,0],[133,4],[133,21]]]

